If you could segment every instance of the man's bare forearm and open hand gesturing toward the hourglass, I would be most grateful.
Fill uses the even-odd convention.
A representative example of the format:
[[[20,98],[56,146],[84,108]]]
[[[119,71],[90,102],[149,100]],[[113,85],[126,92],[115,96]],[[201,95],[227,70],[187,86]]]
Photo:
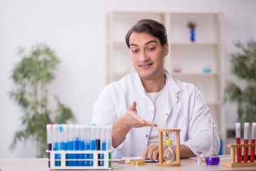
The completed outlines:
[[[122,115],[121,118],[116,120],[112,128],[112,146],[118,147],[121,142],[126,138],[127,133],[131,128],[140,128],[144,126],[158,126],[155,123],[151,123],[148,120],[143,120],[138,116],[136,103],[133,102],[128,108],[126,114]]]

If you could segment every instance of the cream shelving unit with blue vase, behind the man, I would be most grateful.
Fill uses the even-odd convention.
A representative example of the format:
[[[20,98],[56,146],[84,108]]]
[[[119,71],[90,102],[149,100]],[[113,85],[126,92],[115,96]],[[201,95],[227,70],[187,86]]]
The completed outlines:
[[[208,102],[210,113],[219,128],[225,154],[224,95],[224,16],[220,13],[120,12],[108,13],[107,83],[135,72],[126,46],[126,33],[140,19],[154,19],[165,25],[169,54],[165,69],[180,81],[193,83]],[[195,42],[190,41],[189,21],[197,24]],[[210,73],[204,73],[208,64]],[[180,72],[173,72],[180,66]]]

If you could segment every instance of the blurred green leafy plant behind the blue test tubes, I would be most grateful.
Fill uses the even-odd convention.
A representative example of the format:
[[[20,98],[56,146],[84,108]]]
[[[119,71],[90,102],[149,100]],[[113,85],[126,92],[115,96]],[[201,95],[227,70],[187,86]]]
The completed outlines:
[[[18,55],[21,61],[14,66],[11,79],[15,89],[10,93],[21,106],[24,114],[21,117],[21,129],[17,130],[10,149],[21,140],[34,140],[37,145],[37,157],[46,156],[46,124],[66,123],[74,120],[70,108],[55,97],[49,105],[47,84],[53,81],[53,71],[59,63],[55,53],[46,46],[32,46],[31,51],[20,48]]]

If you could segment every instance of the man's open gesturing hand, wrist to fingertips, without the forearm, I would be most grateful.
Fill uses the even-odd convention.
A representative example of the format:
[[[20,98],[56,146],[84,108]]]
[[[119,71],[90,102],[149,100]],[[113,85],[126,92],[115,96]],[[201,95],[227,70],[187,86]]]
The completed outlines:
[[[125,119],[125,122],[126,122],[125,124],[129,128],[140,128],[144,126],[152,126],[152,127],[158,126],[157,124],[151,123],[148,120],[141,119],[138,116],[136,105],[137,104],[135,103],[135,101],[133,101],[133,104],[130,105],[130,107],[127,110],[127,113],[123,115],[123,118]]]

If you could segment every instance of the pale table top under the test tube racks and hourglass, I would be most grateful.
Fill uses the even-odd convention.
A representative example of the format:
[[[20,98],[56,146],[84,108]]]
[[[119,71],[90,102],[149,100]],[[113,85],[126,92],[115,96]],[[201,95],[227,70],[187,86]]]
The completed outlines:
[[[223,167],[222,162],[230,162],[228,159],[230,155],[220,156],[220,165],[206,165],[205,163],[197,164],[194,159],[180,160],[180,167],[159,167],[156,163],[146,163],[141,166],[126,165],[113,167],[113,170],[140,170],[140,171],[170,171],[170,170],[256,170],[256,167]],[[31,158],[31,159],[0,159],[1,171],[46,171],[47,161],[45,158]]]

